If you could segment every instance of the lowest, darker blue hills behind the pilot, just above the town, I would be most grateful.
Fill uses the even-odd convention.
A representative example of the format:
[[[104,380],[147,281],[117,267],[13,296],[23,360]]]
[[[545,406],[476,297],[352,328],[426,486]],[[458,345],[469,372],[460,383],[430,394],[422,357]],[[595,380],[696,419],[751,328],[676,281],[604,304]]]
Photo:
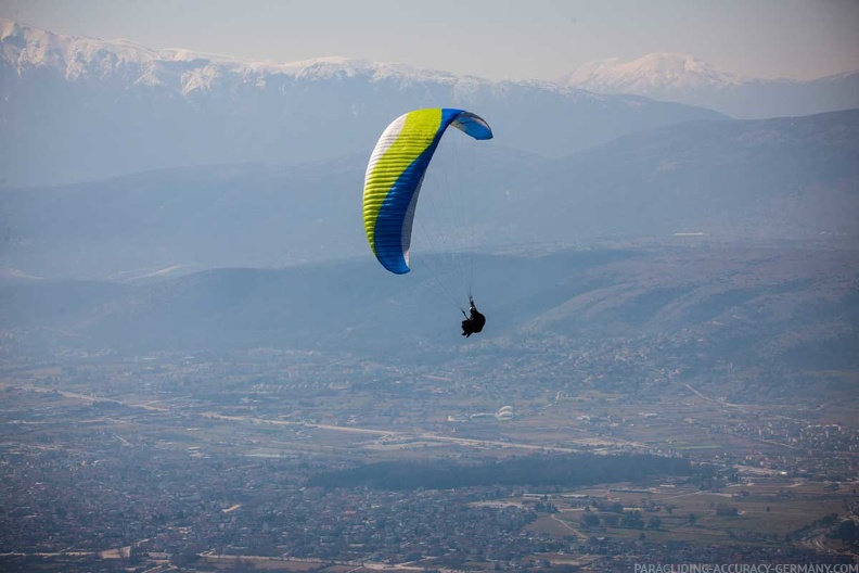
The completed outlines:
[[[859,366],[855,247],[678,242],[472,262],[488,322],[467,341],[432,262],[397,277],[366,259],[154,283],[3,283],[0,334],[14,355],[272,347],[425,361],[471,348],[513,359],[564,340],[564,353],[636,348],[636,364]]]

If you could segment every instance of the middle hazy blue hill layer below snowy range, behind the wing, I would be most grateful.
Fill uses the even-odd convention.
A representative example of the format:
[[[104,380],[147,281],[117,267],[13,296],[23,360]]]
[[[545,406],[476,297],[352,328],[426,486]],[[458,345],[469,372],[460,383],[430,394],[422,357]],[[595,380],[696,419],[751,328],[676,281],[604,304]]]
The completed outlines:
[[[560,160],[460,142],[424,186],[412,255],[467,246],[857,240],[859,111],[687,123]],[[367,156],[0,190],[10,278],[130,280],[368,257]],[[452,184],[451,184],[452,183]],[[439,201],[444,200],[444,201]],[[469,217],[464,217],[467,213]],[[425,224],[425,226],[424,226]],[[463,230],[463,241],[456,238]]]

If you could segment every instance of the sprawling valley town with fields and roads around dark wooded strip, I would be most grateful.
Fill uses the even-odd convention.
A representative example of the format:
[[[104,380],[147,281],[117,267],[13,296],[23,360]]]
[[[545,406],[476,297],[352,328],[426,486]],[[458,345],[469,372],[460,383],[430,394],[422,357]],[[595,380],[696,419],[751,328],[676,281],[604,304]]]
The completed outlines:
[[[852,562],[849,400],[825,385],[792,392],[787,375],[770,399],[745,399],[765,384],[732,365],[707,378],[637,341],[556,344],[565,351],[497,344],[440,366],[284,349],[10,360],[0,559],[63,571]],[[639,483],[308,485],[376,461],[582,453],[692,470]]]

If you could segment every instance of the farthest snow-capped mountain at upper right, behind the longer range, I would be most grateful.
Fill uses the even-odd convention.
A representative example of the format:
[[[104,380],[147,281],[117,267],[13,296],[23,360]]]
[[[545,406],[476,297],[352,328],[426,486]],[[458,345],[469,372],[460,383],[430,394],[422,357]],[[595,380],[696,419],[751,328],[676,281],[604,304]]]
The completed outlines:
[[[691,55],[652,53],[585,64],[561,78],[597,93],[631,93],[718,110],[738,118],[810,115],[859,107],[859,71],[811,81],[752,78]]]

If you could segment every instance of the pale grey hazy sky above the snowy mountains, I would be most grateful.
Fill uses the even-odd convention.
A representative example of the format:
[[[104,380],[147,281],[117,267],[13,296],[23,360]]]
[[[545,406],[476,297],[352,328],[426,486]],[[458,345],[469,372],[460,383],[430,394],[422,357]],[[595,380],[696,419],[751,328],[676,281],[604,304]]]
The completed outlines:
[[[859,68],[859,0],[0,0],[73,36],[293,62],[403,62],[556,79],[606,58],[680,52],[758,77]]]

